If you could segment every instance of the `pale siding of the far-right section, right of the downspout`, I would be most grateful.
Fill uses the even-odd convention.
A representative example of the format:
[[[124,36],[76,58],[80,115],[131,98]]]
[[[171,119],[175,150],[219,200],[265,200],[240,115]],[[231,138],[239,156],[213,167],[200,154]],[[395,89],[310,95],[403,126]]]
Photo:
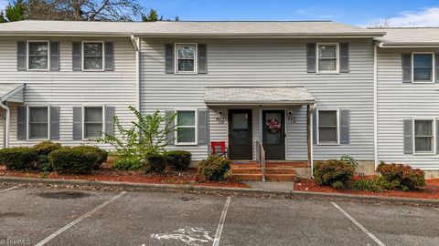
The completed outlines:
[[[378,49],[378,158],[425,170],[439,169],[438,155],[404,154],[403,120],[439,118],[438,83],[402,83],[402,52],[411,51],[439,49]]]

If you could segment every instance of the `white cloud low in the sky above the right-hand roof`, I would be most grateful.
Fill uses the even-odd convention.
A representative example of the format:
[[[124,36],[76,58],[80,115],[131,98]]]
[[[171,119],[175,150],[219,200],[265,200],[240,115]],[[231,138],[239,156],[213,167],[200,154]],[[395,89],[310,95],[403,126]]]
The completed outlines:
[[[424,8],[421,11],[404,11],[398,16],[380,18],[364,26],[377,26],[387,21],[391,27],[439,27],[439,7]]]

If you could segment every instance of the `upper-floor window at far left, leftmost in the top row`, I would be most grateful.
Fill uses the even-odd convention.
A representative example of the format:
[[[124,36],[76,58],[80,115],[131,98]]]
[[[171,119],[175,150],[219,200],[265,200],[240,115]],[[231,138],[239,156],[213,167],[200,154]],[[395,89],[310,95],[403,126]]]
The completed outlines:
[[[48,70],[48,41],[27,42],[27,69]]]

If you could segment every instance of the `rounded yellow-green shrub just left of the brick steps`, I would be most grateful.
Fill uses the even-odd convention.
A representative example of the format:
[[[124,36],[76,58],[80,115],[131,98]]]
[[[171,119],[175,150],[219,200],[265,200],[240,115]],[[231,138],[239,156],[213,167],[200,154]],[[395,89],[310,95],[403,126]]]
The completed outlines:
[[[198,174],[213,181],[225,179],[229,170],[230,160],[216,155],[209,156],[208,159],[198,163]]]

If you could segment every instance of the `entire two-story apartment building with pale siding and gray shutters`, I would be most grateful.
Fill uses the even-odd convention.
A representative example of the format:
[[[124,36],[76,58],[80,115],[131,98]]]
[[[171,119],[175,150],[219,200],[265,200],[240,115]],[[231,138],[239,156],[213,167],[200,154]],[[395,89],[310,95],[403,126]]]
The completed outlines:
[[[327,21],[2,24],[0,134],[4,146],[90,144],[101,131],[118,134],[112,116],[128,125],[131,105],[177,112],[169,149],[195,160],[224,141],[230,159],[256,159],[263,147],[266,159],[350,155],[363,172],[380,160],[437,170],[435,85],[424,83],[427,70],[435,79],[434,44],[393,47],[405,30]]]

